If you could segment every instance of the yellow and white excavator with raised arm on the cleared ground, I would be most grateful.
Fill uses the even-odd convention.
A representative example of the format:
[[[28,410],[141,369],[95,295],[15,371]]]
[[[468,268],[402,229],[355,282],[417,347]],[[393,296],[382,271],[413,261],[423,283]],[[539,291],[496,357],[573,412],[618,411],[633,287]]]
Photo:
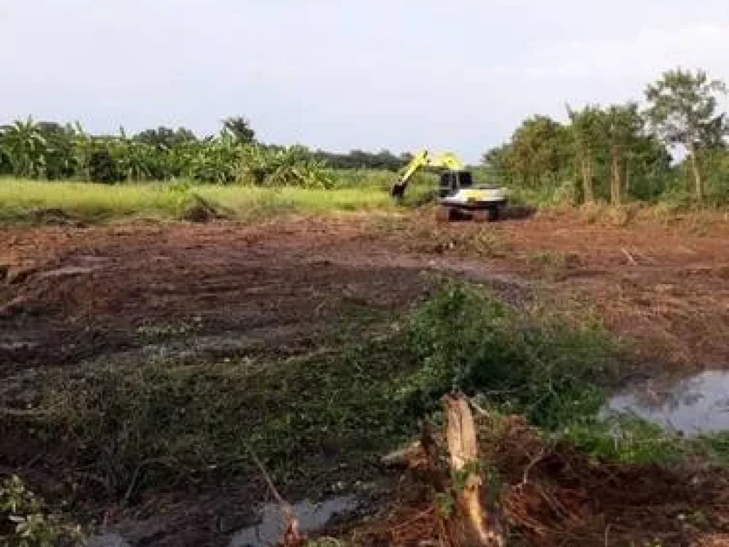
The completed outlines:
[[[464,168],[464,163],[453,152],[440,155],[430,155],[427,150],[418,152],[394,183],[392,197],[402,201],[410,179],[426,167],[443,170],[438,189],[438,220],[470,218],[485,222],[498,220],[502,216],[507,205],[506,190],[492,185],[474,186],[471,171]]]

